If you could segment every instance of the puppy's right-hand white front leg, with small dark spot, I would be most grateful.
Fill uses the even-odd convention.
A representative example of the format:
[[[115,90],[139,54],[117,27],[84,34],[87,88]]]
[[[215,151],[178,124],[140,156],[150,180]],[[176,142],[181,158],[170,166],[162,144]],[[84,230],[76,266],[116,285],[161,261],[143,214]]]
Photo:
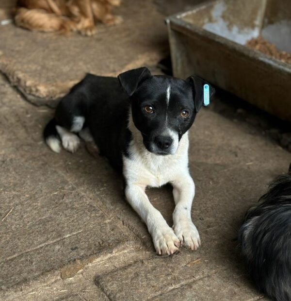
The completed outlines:
[[[187,176],[183,175],[178,179],[171,182],[176,204],[173,213],[174,231],[184,246],[196,250],[201,245],[201,242],[199,233],[191,219],[195,185],[189,174]]]

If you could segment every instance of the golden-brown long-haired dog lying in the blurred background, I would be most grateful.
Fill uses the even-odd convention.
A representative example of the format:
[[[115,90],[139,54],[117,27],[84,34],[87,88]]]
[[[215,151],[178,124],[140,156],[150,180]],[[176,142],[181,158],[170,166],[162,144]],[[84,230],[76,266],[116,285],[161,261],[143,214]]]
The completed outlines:
[[[95,20],[106,25],[122,21],[111,14],[118,5],[120,0],[18,0],[15,24],[32,31],[92,35],[96,33]]]

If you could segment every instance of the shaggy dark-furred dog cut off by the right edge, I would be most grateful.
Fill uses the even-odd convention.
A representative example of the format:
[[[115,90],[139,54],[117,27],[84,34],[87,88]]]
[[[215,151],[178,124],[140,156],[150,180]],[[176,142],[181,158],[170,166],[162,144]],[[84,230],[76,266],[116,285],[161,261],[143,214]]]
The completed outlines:
[[[291,300],[291,167],[259,203],[248,210],[239,231],[242,254],[259,287],[276,301]]]

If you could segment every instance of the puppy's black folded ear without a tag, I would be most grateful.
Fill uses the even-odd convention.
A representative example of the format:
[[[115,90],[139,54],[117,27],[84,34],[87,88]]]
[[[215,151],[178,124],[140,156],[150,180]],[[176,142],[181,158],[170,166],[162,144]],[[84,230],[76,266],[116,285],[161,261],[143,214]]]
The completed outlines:
[[[119,74],[117,78],[125,92],[131,96],[135,92],[137,86],[151,76],[150,71],[146,67],[141,67],[123,72]]]

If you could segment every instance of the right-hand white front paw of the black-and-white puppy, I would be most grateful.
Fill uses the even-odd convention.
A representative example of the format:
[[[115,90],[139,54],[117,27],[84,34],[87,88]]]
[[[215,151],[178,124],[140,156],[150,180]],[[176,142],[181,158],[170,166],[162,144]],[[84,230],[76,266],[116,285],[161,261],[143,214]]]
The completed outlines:
[[[184,247],[197,250],[201,246],[198,230],[191,219],[180,220],[173,228]]]

